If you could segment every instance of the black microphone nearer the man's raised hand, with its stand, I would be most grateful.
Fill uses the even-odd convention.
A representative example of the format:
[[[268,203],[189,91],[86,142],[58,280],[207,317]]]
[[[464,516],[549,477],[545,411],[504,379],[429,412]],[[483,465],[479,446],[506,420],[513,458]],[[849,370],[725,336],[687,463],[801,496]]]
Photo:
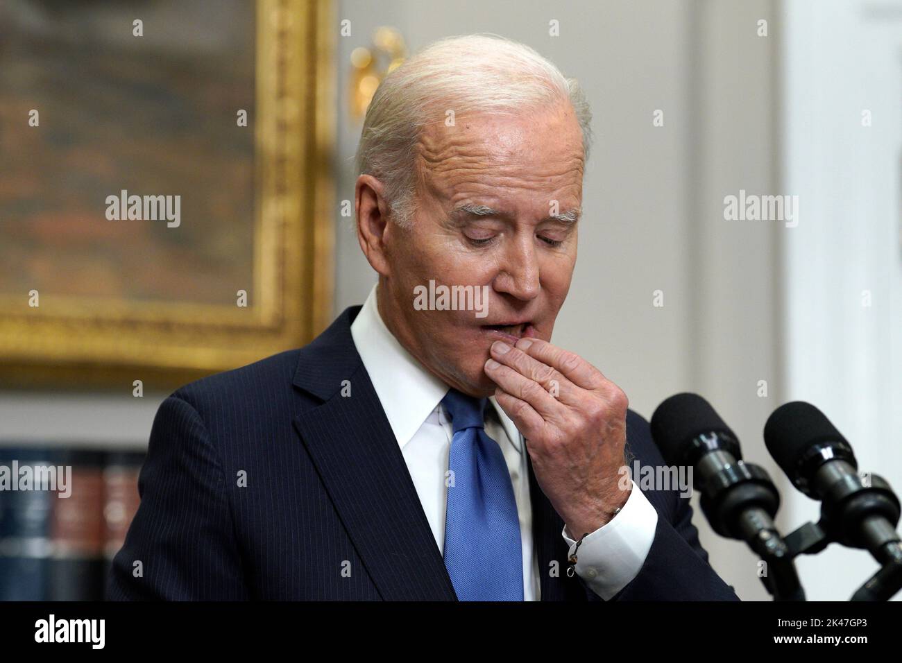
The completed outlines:
[[[772,573],[761,578],[777,600],[804,601],[786,542],[774,517],[780,504],[767,471],[745,463],[739,440],[708,401],[678,393],[651,416],[654,438],[668,465],[693,468],[705,517],[715,532],[749,544]]]

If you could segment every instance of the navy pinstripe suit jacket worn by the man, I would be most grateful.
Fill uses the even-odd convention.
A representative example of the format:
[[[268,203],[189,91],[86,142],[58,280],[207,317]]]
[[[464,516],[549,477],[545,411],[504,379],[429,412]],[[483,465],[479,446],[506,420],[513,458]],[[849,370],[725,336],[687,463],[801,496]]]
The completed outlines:
[[[354,347],[359,310],[347,308],[299,350],[163,401],[109,598],[456,600]],[[664,465],[648,422],[631,410],[627,437],[642,465]],[[529,487],[541,599],[600,600],[564,573],[564,523],[531,465]],[[654,543],[614,599],[736,600],[707,563],[688,500],[676,491],[646,495],[658,511]]]

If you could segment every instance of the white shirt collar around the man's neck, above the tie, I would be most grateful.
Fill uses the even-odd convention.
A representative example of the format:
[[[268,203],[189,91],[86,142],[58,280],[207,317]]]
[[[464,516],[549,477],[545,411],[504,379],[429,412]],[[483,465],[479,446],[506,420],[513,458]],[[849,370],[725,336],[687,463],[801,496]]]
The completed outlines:
[[[391,431],[403,448],[445,398],[448,385],[429,373],[385,327],[376,305],[377,287],[378,284],[370,290],[364,307],[354,318],[351,336]],[[520,431],[494,396],[489,401],[514,448],[520,452]]]

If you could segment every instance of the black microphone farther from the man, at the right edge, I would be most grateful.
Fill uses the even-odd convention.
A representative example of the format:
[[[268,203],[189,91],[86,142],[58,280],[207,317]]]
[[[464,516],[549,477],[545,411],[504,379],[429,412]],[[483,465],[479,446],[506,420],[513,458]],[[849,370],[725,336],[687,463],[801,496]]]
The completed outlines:
[[[822,502],[818,525],[829,539],[865,548],[881,564],[899,563],[896,494],[876,474],[868,482],[859,476],[851,445],[821,410],[803,401],[780,406],[764,427],[764,443],[789,481]]]

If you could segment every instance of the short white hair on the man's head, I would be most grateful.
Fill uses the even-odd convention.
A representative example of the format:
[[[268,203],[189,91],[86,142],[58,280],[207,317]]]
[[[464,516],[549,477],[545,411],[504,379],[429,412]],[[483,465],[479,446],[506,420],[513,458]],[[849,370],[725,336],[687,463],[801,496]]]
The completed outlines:
[[[391,218],[412,224],[415,147],[428,123],[468,112],[520,115],[569,101],[583,134],[584,159],[592,143],[592,111],[575,78],[525,44],[497,34],[447,37],[393,69],[376,89],[357,146],[357,174],[382,181]]]

